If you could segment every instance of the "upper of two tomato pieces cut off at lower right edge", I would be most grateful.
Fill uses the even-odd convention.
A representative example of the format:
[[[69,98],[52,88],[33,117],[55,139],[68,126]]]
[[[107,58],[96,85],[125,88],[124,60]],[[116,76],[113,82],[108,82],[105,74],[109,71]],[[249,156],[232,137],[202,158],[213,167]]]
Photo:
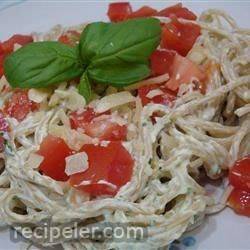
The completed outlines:
[[[236,161],[230,170],[229,182],[235,188],[250,192],[250,155]]]

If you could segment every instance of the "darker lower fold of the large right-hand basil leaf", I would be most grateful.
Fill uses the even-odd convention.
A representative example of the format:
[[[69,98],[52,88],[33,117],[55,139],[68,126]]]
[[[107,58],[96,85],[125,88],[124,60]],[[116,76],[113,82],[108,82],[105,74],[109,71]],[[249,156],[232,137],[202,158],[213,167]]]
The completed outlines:
[[[117,65],[102,65],[90,67],[89,77],[98,82],[114,87],[126,86],[140,81],[150,75],[150,69],[146,64],[128,64],[121,62]]]

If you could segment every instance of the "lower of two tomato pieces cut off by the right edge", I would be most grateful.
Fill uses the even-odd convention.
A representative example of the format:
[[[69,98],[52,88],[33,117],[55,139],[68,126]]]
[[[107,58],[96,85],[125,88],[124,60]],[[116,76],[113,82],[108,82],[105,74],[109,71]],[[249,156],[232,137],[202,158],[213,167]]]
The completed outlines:
[[[228,198],[228,205],[236,213],[250,217],[250,192],[235,188]]]

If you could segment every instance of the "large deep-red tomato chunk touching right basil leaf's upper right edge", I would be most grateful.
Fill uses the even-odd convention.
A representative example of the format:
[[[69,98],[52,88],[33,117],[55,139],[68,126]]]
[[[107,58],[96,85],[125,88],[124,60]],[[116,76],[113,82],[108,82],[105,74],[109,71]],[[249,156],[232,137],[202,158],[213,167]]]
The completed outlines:
[[[170,23],[162,27],[161,47],[175,50],[186,56],[200,35],[200,27],[193,23],[180,23],[177,18],[172,18]]]

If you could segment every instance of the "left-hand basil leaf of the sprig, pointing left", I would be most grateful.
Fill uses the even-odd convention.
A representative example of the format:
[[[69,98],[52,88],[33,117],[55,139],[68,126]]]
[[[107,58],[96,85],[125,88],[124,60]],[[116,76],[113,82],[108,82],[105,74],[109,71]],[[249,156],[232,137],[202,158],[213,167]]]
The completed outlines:
[[[59,42],[30,43],[4,61],[12,87],[42,88],[79,77],[84,69],[76,48]]]

